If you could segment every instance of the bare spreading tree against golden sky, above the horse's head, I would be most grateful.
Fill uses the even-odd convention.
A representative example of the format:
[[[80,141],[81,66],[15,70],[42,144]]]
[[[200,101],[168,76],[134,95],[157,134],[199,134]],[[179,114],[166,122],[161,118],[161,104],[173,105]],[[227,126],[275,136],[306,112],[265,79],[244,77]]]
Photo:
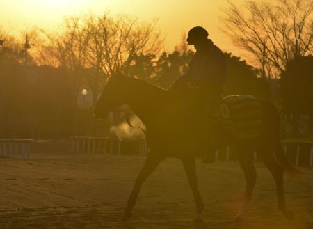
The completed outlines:
[[[162,48],[157,22],[138,22],[136,17],[104,13],[84,19],[90,65],[106,75],[111,71],[127,72],[133,56],[158,54]],[[86,34],[87,36],[87,34]]]

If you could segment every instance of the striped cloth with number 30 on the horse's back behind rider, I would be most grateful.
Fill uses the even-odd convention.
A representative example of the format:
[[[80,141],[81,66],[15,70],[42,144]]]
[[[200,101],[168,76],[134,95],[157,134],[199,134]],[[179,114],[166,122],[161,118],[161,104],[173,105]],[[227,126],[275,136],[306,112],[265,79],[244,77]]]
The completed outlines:
[[[252,95],[230,95],[214,113],[216,123],[230,129],[239,139],[254,139],[262,130],[262,109]]]

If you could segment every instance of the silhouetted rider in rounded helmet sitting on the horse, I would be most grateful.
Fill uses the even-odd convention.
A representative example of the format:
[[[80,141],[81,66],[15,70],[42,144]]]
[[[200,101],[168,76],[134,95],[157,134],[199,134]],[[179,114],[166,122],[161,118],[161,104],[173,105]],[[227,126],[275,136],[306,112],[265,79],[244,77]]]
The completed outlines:
[[[177,79],[172,88],[180,88],[186,84],[197,87],[203,113],[213,115],[218,104],[222,102],[223,86],[226,81],[226,61],[223,52],[207,38],[208,35],[209,33],[200,26],[193,27],[188,32],[188,45],[194,45],[196,52],[189,63],[188,72]],[[211,125],[211,129],[217,132],[218,128],[215,127],[215,124]],[[207,157],[204,157],[204,161],[209,162]]]

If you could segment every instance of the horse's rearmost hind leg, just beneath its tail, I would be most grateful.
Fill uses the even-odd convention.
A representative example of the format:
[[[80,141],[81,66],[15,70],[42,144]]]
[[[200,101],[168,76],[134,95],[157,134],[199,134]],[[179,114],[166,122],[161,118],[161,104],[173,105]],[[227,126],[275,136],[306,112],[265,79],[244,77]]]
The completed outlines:
[[[282,147],[280,147],[278,150],[283,149]],[[293,212],[287,210],[286,203],[284,201],[284,186],[283,186],[284,168],[282,168],[276,161],[273,155],[272,148],[258,150],[258,155],[259,157],[262,158],[262,161],[264,162],[266,168],[268,168],[268,170],[271,171],[271,174],[274,177],[276,183],[278,208],[282,211],[284,216],[287,217],[287,219],[294,219]]]

